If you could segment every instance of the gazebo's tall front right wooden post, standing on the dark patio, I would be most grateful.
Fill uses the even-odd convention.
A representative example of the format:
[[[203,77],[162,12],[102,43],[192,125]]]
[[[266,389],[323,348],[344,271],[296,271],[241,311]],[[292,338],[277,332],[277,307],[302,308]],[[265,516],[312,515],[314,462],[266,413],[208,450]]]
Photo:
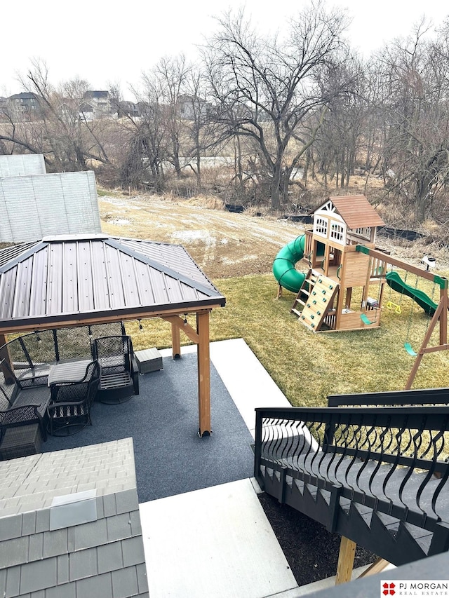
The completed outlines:
[[[210,432],[210,351],[209,351],[209,312],[196,313],[198,358],[198,410],[199,435],[209,436]]]

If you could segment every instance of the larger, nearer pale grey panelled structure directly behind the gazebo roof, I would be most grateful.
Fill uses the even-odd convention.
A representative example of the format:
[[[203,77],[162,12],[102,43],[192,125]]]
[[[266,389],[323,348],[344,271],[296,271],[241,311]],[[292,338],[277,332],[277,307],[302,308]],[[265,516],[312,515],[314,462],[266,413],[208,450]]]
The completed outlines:
[[[101,232],[91,171],[0,179],[0,210],[1,242]]]

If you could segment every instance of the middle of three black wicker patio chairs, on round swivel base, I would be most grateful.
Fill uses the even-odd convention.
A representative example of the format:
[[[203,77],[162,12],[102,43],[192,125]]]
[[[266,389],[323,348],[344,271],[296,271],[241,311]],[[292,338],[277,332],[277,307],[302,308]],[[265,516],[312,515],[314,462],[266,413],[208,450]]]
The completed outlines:
[[[91,406],[100,386],[98,361],[89,363],[78,381],[58,381],[51,386],[47,430],[52,436],[69,436],[91,426]]]

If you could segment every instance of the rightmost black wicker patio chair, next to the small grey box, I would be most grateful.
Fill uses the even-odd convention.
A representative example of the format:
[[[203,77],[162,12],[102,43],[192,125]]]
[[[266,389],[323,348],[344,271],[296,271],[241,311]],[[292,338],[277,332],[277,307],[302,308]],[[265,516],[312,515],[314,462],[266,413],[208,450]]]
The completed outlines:
[[[139,394],[139,373],[133,343],[126,335],[93,341],[93,354],[101,365],[98,400],[115,404]]]

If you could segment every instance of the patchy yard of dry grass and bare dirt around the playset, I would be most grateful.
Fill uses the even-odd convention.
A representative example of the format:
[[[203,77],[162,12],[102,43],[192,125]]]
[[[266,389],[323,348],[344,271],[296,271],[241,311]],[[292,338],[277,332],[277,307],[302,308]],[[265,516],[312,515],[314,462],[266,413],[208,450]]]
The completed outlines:
[[[107,233],[186,247],[227,297],[227,306],[212,313],[211,339],[243,337],[293,405],[326,405],[327,395],[334,393],[404,388],[414,358],[403,344],[408,341],[417,351],[429,323],[411,299],[387,287],[384,304],[388,299],[402,304],[401,314],[384,308],[380,329],[328,334],[309,332],[290,313],[293,293],[284,291],[276,299],[272,261],[280,247],[302,233],[300,226],[212,210],[200,200],[104,197],[100,208]],[[414,264],[425,249],[419,243],[381,244]],[[448,263],[445,250],[440,258],[438,264]],[[407,282],[414,286],[415,278]],[[438,300],[438,289],[424,280],[418,288]],[[377,286],[370,294],[377,296]],[[137,324],[127,325],[135,349],[170,346],[166,322],[147,320],[143,325],[142,332]],[[437,334],[431,344],[438,344]],[[449,351],[426,355],[414,388],[449,386],[448,366]]]

